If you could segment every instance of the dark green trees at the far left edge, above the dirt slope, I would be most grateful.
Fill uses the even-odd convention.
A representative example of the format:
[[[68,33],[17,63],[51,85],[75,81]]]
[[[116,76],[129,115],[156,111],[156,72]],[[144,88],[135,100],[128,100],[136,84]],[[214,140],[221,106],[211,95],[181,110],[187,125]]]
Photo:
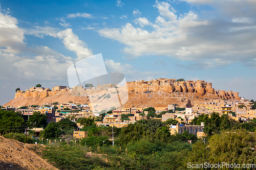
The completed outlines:
[[[0,133],[24,132],[24,119],[22,114],[0,109]]]

